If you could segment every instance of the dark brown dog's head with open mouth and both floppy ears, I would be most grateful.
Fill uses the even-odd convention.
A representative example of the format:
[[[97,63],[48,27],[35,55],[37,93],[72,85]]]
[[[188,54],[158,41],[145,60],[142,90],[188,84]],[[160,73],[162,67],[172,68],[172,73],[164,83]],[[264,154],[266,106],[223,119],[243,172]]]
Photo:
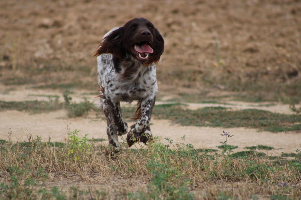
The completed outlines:
[[[159,61],[163,51],[164,40],[154,25],[147,19],[134,18],[105,36],[94,56],[111,53],[121,59],[132,55],[151,64]]]

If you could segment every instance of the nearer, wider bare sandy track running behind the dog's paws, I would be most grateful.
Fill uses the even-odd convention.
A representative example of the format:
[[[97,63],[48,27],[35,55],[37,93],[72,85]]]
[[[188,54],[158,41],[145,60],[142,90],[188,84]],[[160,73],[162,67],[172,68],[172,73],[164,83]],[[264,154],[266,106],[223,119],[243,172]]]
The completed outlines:
[[[79,136],[88,134],[88,138],[105,138],[106,123],[95,118],[92,114],[85,118],[67,118],[65,110],[28,114],[20,111],[0,112],[0,139],[8,140],[8,132],[12,132],[13,141],[27,141],[26,135],[42,136],[43,141],[47,141],[51,136],[51,141],[64,141],[67,137],[67,124],[70,131],[80,130]],[[182,143],[181,137],[186,136],[185,144],[191,143],[194,148],[217,149],[220,141],[224,138],[220,136],[224,129],[213,127],[179,126],[172,124],[168,120],[152,119],[151,126],[154,136],[159,136],[164,143],[164,138],[170,138],[174,144]],[[129,124],[130,125],[130,124]],[[298,133],[271,133],[258,132],[256,129],[229,128],[225,130],[234,137],[230,138],[228,144],[238,146],[235,151],[246,150],[243,147],[253,145],[272,146],[275,150],[265,153],[268,155],[280,155],[281,152],[291,153],[301,147],[301,136]],[[120,140],[120,137],[119,137]]]

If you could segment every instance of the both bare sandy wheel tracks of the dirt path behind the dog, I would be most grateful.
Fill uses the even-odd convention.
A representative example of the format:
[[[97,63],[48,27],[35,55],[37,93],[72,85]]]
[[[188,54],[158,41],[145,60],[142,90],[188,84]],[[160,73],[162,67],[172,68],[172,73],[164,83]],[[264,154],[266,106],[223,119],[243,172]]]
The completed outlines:
[[[57,89],[30,89],[25,86],[9,89],[0,85],[2,92],[0,93],[1,101],[25,101],[25,100],[45,100],[49,101],[47,95],[59,96],[60,101],[64,101],[62,91]],[[95,94],[94,94],[95,93]],[[98,104],[98,98],[95,98],[95,91],[76,90],[70,95],[72,101],[81,102],[83,98],[87,98],[90,102]],[[156,105],[173,102],[157,101]],[[207,106],[222,106],[232,110],[241,109],[261,109],[271,112],[292,114],[289,105],[281,103],[247,103],[247,102],[224,102],[219,104],[212,103],[185,103],[185,108],[198,109]],[[267,106],[264,106],[264,105]],[[123,106],[128,106],[123,103]],[[134,105],[132,105],[134,106]],[[101,112],[101,111],[100,111]],[[296,149],[301,149],[301,135],[296,132],[258,132],[256,129],[246,128],[213,128],[213,127],[194,127],[180,126],[173,124],[168,120],[156,120],[152,118],[151,126],[154,136],[159,136],[165,143],[164,138],[170,138],[176,143],[182,143],[181,137],[186,136],[185,144],[191,143],[195,148],[212,148],[217,149],[220,141],[224,138],[220,136],[223,130],[230,132],[234,137],[230,138],[228,144],[238,146],[234,151],[246,150],[243,147],[253,145],[267,145],[275,149],[267,152],[269,155],[280,155],[281,152],[291,153]],[[41,114],[29,114],[20,111],[2,111],[0,112],[0,139],[8,140],[8,133],[11,132],[13,141],[27,141],[26,135],[42,136],[44,141],[51,136],[51,141],[63,141],[67,137],[67,125],[70,131],[80,130],[79,136],[88,134],[88,138],[104,138],[107,139],[106,122],[100,118],[96,118],[95,113],[85,117],[67,118],[67,111],[59,110]],[[129,123],[130,125],[130,123]],[[120,139],[120,138],[119,138]]]

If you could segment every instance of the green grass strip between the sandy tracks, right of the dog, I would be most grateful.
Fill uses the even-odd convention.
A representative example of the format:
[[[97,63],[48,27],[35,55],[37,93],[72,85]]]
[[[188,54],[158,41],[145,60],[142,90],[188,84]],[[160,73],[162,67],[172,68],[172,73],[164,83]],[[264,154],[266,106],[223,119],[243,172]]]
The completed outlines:
[[[133,108],[126,108],[126,112]],[[270,132],[300,131],[301,115],[272,113],[256,109],[228,111],[224,107],[183,109],[179,105],[160,105],[153,110],[157,119],[168,119],[182,126],[248,127]]]

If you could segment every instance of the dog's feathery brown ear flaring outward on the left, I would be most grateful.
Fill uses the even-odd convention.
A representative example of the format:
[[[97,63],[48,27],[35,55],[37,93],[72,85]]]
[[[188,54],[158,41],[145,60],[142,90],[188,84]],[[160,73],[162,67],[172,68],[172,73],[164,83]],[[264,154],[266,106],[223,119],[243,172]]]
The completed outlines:
[[[123,33],[124,27],[120,27],[104,37],[93,56],[97,57],[104,53],[111,53],[116,57],[121,58]]]

